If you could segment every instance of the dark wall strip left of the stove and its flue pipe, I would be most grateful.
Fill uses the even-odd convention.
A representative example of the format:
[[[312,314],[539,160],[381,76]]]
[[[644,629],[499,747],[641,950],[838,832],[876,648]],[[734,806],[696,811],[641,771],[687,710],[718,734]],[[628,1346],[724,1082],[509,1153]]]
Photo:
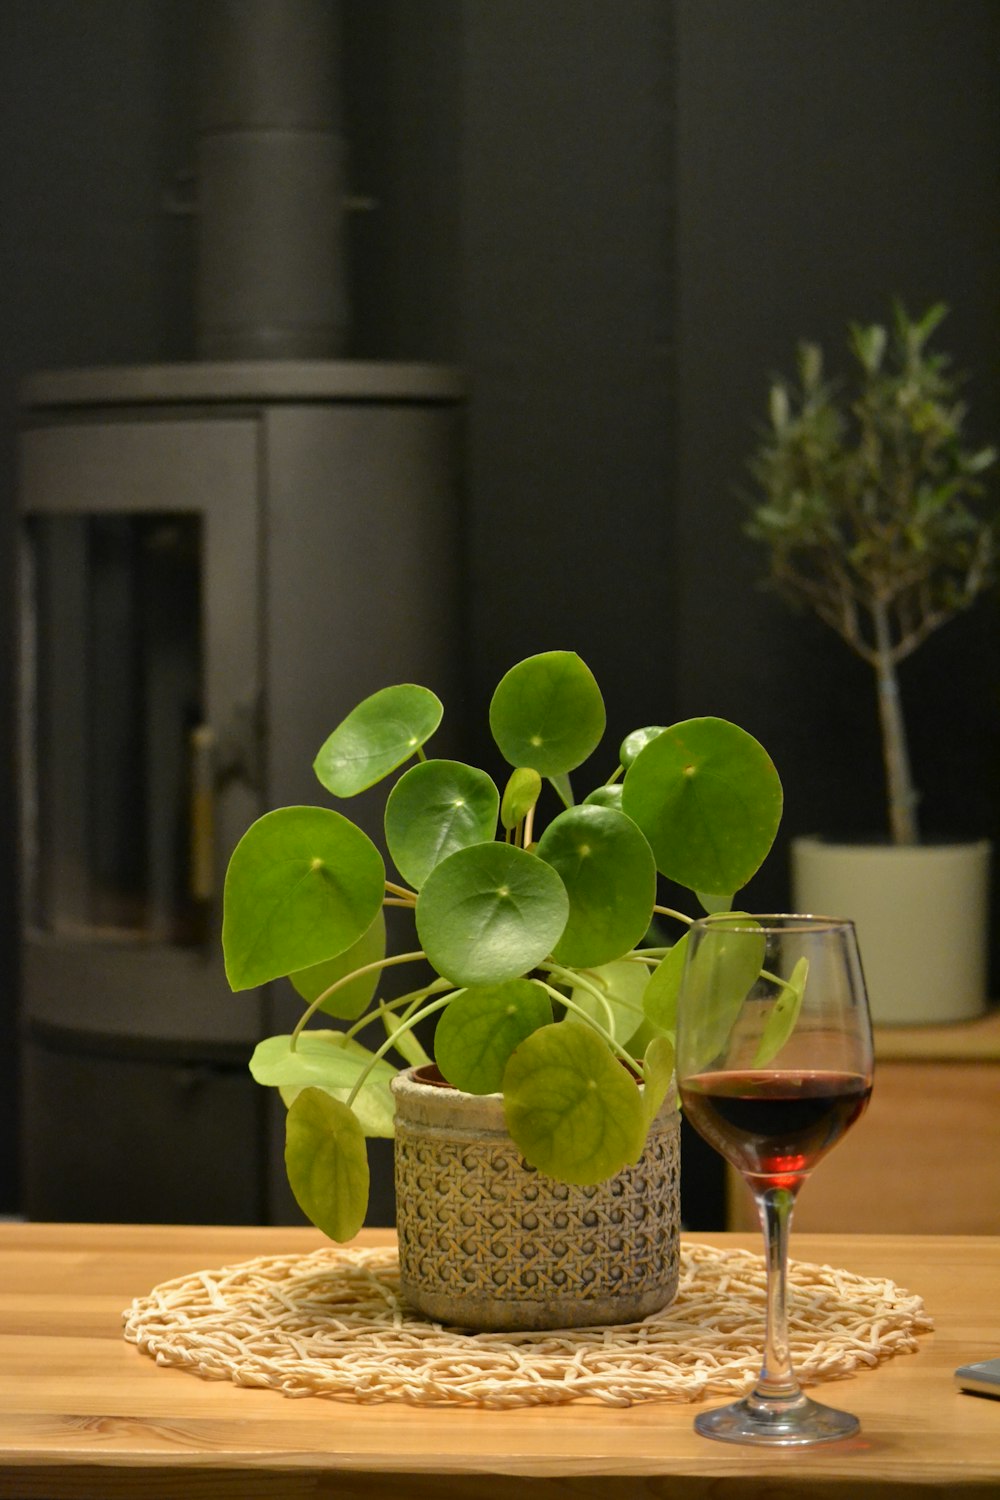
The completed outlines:
[[[13,552],[16,384],[28,370],[178,358],[187,232],[186,0],[13,0],[0,45],[0,1212],[16,1208]]]

